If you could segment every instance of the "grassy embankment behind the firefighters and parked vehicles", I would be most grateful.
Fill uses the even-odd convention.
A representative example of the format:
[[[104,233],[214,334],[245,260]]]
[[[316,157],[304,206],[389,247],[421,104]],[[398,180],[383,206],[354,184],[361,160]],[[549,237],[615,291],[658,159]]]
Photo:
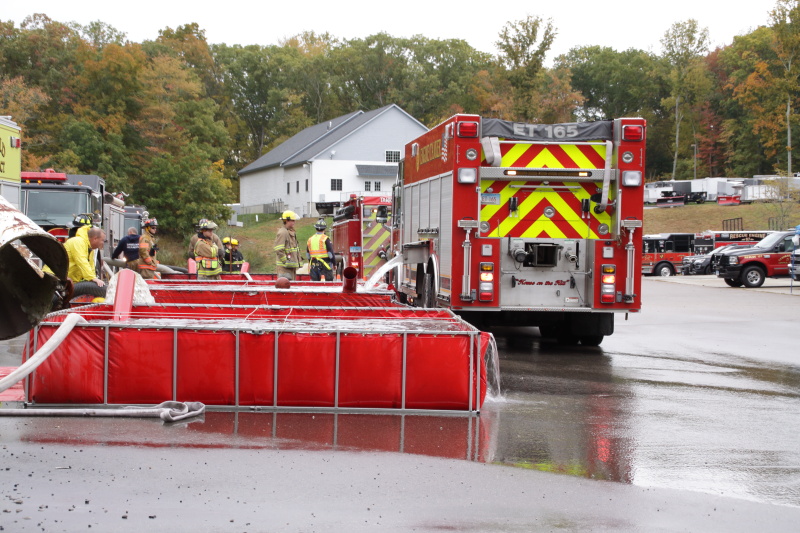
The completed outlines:
[[[721,230],[722,221],[730,218],[742,218],[744,230],[769,229],[769,218],[774,217],[774,206],[770,204],[717,205],[690,204],[683,207],[660,207],[645,209],[644,234],[653,233],[699,233],[708,229]],[[272,246],[275,234],[282,223],[278,215],[244,215],[239,220],[244,227],[234,228],[221,226],[217,234],[222,237],[234,237],[239,240],[239,249],[246,261],[250,262],[250,271],[255,273],[275,272],[275,256]],[[297,241],[305,256],[305,243],[314,233],[316,218],[301,218],[295,224]],[[327,219],[330,235],[332,219]],[[800,214],[791,219],[792,224],[800,224]],[[183,238],[165,236],[159,244],[159,259],[167,265],[186,265],[186,250],[191,235]]]

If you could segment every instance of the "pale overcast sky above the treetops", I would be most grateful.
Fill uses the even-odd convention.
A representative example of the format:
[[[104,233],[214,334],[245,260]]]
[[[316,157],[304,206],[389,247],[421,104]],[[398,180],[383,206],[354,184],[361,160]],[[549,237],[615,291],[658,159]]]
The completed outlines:
[[[549,63],[582,45],[660,53],[659,41],[669,27],[690,18],[708,28],[713,46],[730,44],[734,36],[767,24],[774,6],[775,0],[39,0],[3,2],[0,20],[12,20],[19,26],[32,13],[83,25],[100,20],[135,42],[155,39],[165,27],[197,22],[210,43],[229,45],[278,44],[306,30],[343,39],[383,31],[394,37],[422,34],[434,39],[464,39],[478,50],[496,54],[494,43],[502,27],[533,15],[552,19],[558,31]]]

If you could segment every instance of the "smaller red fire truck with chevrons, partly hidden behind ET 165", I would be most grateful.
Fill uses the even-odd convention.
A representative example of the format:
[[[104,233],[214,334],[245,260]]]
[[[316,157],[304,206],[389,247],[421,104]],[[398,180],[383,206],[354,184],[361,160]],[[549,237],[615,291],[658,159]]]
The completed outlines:
[[[385,263],[392,235],[388,226],[391,205],[388,196],[351,194],[336,211],[331,239],[340,276],[344,268],[352,266],[359,278],[369,279]]]

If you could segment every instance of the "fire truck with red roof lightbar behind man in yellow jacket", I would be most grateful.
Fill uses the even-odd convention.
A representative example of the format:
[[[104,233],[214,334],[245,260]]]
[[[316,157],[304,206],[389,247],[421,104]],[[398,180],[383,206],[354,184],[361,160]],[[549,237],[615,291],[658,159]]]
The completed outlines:
[[[125,236],[125,202],[106,192],[105,180],[95,175],[64,174],[53,169],[22,172],[21,211],[42,229],[65,241],[76,215],[91,213],[106,232],[104,256]]]

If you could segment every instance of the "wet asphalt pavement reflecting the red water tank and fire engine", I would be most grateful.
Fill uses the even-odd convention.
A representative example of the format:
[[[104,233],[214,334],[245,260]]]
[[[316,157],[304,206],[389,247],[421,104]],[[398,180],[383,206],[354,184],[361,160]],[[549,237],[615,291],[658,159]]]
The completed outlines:
[[[0,530],[796,531],[794,289],[647,278],[597,348],[497,330],[480,417],[0,418]]]

